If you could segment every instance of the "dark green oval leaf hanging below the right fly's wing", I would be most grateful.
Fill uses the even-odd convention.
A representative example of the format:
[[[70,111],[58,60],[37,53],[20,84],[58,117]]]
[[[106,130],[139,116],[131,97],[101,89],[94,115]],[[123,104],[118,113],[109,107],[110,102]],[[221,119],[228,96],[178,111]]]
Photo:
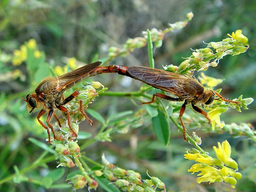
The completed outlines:
[[[167,146],[170,141],[170,125],[164,113],[158,110],[158,115],[152,118],[152,123],[157,138]]]

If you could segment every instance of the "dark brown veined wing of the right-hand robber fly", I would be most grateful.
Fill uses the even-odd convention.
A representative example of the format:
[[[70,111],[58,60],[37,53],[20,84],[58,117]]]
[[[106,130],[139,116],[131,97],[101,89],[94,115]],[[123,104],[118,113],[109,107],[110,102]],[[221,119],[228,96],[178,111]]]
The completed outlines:
[[[142,66],[128,67],[127,72],[135,79],[151,85],[152,87],[181,96],[180,93],[176,91],[176,86],[179,79],[184,77],[183,75]]]

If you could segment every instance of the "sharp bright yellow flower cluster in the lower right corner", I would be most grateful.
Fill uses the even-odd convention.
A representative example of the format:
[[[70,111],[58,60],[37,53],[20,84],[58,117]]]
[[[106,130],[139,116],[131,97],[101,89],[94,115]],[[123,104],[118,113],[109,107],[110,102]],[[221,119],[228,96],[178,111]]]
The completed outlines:
[[[195,160],[197,164],[192,165],[188,172],[200,172],[196,179],[197,183],[201,182],[226,182],[235,188],[235,184],[238,179],[242,178],[242,174],[237,172],[238,166],[235,160],[230,158],[231,147],[227,140],[223,141],[222,144],[218,142],[218,147],[213,147],[218,159],[212,158],[206,154],[200,154],[196,151],[194,154],[185,154],[184,158],[189,160]]]

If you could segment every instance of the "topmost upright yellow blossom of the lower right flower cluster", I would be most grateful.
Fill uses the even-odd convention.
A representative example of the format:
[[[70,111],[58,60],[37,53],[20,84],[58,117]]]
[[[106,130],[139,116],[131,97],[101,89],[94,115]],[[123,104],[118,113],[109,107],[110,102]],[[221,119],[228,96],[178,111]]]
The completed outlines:
[[[218,147],[219,148],[217,148],[216,146],[213,146],[213,149],[218,159],[220,159],[220,161],[222,161],[226,166],[237,170],[238,165],[236,161],[230,158],[231,146],[229,145],[228,141],[227,140],[223,141],[221,145],[220,145],[220,142],[218,142]]]

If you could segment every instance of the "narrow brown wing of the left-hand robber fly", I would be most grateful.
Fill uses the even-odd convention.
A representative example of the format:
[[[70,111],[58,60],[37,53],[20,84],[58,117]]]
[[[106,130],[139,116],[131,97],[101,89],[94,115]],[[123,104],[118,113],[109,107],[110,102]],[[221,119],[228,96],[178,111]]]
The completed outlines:
[[[96,61],[94,63],[85,65],[68,73],[65,73],[58,77],[60,84],[57,88],[57,91],[63,89],[69,89],[73,87],[75,84],[79,83],[83,79],[89,77],[89,73],[97,68],[102,62]]]

